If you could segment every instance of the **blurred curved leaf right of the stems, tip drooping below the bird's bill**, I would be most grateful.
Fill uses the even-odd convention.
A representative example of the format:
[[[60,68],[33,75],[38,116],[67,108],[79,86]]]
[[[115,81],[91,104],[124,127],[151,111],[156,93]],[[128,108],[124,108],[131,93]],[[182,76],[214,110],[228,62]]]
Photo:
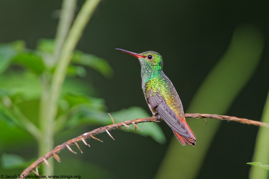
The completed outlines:
[[[71,63],[91,67],[100,72],[105,77],[111,77],[113,70],[106,60],[95,55],[85,54],[81,51],[74,51]]]

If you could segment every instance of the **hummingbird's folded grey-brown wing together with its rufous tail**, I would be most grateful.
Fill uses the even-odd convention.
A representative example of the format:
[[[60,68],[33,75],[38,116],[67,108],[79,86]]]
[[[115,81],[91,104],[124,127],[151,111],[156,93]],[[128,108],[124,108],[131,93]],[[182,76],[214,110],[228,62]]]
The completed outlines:
[[[145,93],[145,97],[152,109],[155,109],[163,120],[172,128],[175,136],[182,145],[185,145],[186,142],[189,145],[195,145],[195,135],[187,124],[184,113],[183,115],[176,115],[176,113],[166,104],[161,93],[154,92],[152,88]]]

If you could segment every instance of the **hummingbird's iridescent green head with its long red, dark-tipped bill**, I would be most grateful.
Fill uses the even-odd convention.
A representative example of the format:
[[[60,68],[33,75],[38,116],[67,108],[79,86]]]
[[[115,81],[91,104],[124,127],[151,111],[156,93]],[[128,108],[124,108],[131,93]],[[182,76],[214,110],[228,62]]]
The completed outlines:
[[[142,68],[146,66],[147,68],[152,68],[154,70],[163,69],[163,58],[157,52],[147,51],[143,53],[133,53],[122,49],[116,49],[116,50],[120,50],[122,52],[126,52],[137,57],[139,59]]]

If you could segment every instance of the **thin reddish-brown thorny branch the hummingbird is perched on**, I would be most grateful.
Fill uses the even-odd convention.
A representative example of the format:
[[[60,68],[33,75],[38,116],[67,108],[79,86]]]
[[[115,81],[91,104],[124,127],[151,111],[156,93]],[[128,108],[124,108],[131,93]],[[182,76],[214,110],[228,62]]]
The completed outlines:
[[[217,114],[199,114],[199,113],[185,114],[185,118],[212,118],[212,119],[220,119],[220,120],[227,120],[227,121],[237,121],[237,122],[240,122],[240,123],[243,123],[243,124],[250,124],[250,125],[255,125],[255,126],[269,127],[269,124],[264,123],[264,122],[252,121],[252,120],[248,120],[248,119],[236,118],[236,117],[232,117],[232,116],[223,116],[223,115],[217,115]],[[133,124],[135,126],[135,128],[136,127],[138,128],[138,126],[136,125],[138,123],[142,123],[142,122],[159,122],[159,121],[160,121],[160,119],[158,119],[157,117],[140,118],[140,119],[134,119],[134,120],[131,120],[131,121],[124,121],[124,122],[119,122],[119,123],[116,123],[116,124],[111,124],[111,125],[108,125],[108,126],[104,126],[104,127],[94,129],[91,132],[86,132],[86,133],[84,133],[84,134],[82,134],[82,135],[80,135],[80,136],[78,136],[76,138],[73,138],[73,139],[71,139],[69,141],[66,141],[66,142],[62,143],[61,145],[56,146],[53,150],[51,150],[47,154],[43,155],[42,157],[38,158],[30,166],[28,166],[26,169],[24,169],[20,176],[29,175],[29,173],[31,171],[33,171],[33,169],[35,169],[40,163],[42,163],[44,161],[47,161],[47,159],[50,158],[51,156],[53,156],[54,158],[56,158],[56,160],[58,162],[60,162],[60,158],[57,155],[57,153],[59,151],[61,151],[62,149],[65,149],[65,148],[68,148],[71,152],[74,153],[74,151],[69,146],[71,146],[73,144],[77,145],[77,142],[79,142],[79,141],[82,141],[85,145],[88,145],[88,146],[90,146],[90,145],[88,143],[86,143],[85,139],[93,138],[93,139],[96,139],[98,141],[101,141],[101,140],[97,139],[96,137],[94,137],[94,135],[97,135],[99,133],[108,132],[108,131],[110,131],[112,129],[119,128],[121,126],[129,127],[127,125],[130,125],[130,124]],[[108,132],[108,134],[110,134],[110,133]],[[112,139],[114,139],[112,137],[112,135],[110,135],[110,137]],[[103,141],[101,141],[101,142],[103,142]],[[81,150],[80,150],[80,152],[82,153]]]

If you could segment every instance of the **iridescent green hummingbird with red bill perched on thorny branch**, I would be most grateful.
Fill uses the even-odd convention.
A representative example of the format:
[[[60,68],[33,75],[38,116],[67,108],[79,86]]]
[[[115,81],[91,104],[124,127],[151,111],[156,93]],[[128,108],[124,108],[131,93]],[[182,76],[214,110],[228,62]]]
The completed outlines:
[[[186,122],[181,100],[172,82],[163,73],[163,58],[154,51],[129,53],[138,58],[141,65],[142,89],[153,116],[163,119],[178,141],[194,146],[196,137]]]

